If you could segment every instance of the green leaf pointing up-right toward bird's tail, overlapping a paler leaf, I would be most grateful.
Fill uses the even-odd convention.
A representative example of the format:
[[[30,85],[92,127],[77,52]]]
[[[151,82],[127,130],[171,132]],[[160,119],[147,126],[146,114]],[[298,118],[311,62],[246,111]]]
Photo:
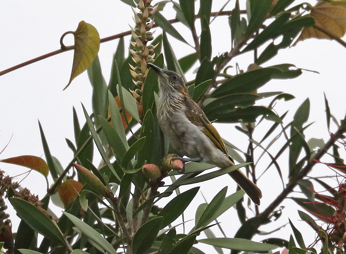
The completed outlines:
[[[218,194],[211,200],[210,204],[206,207],[206,210],[201,215],[201,218],[196,223],[196,228],[207,226],[211,221],[216,219],[214,216],[221,207],[225,200],[227,192],[227,186],[224,187]]]

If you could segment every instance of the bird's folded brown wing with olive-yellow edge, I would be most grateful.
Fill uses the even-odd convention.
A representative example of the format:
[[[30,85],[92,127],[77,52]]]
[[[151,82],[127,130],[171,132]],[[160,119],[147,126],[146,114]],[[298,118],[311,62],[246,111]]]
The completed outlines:
[[[228,155],[227,148],[224,141],[222,141],[220,134],[210,123],[206,114],[204,114],[201,108],[189,96],[186,96],[185,115],[191,123],[203,127],[202,132],[207,135],[217,148],[219,148],[224,154]]]

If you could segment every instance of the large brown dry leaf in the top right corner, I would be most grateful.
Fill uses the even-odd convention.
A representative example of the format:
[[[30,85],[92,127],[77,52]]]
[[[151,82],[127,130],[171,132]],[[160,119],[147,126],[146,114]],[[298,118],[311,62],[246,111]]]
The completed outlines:
[[[342,1],[324,2],[318,1],[312,7],[310,16],[315,19],[315,24],[326,29],[329,33],[343,37],[346,33],[346,8]],[[308,38],[328,39],[331,38],[314,27],[304,27],[297,41]]]

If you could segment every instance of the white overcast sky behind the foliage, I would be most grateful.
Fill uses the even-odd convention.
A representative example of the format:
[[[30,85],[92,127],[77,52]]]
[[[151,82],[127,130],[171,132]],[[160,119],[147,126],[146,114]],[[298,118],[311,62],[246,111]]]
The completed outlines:
[[[197,1],[199,2],[199,1]],[[224,1],[214,1],[213,11],[219,10]],[[227,10],[233,8],[235,1],[230,1]],[[313,1],[310,1],[314,3]],[[155,1],[153,1],[155,3]],[[197,3],[198,5],[198,3]],[[167,4],[167,9],[171,4]],[[198,7],[196,7],[198,10]],[[133,12],[130,7],[119,0],[84,0],[84,1],[2,1],[0,3],[0,70],[7,69],[13,65],[35,58],[39,55],[59,49],[60,36],[69,30],[75,30],[79,21],[84,20],[95,26],[100,37],[107,37],[113,34],[127,31],[128,24],[133,25]],[[174,18],[173,11],[166,11],[167,18]],[[199,25],[199,21],[196,22]],[[193,44],[191,35],[182,25],[175,25],[183,34],[184,38]],[[227,17],[217,18],[211,25],[213,56],[218,53],[229,51],[230,30]],[[157,29],[156,35],[160,34]],[[129,37],[125,42],[128,44]],[[66,45],[72,44],[72,35],[64,40]],[[99,57],[103,70],[103,75],[108,81],[112,54],[116,49],[118,41],[103,43],[100,46]],[[192,52],[192,49],[176,40],[171,41],[177,57],[181,57]],[[91,93],[92,89],[85,73],[73,80],[72,84],[65,91],[70,78],[73,52],[64,52],[49,59],[39,61],[27,67],[12,71],[0,77],[0,150],[7,144],[11,135],[13,138],[8,147],[0,155],[0,158],[8,158],[19,155],[43,156],[43,148],[39,135],[39,119],[46,134],[51,153],[56,156],[66,166],[73,154],[67,147],[65,138],[73,140],[72,106],[76,107],[80,121],[84,122],[84,116],[80,102],[82,102],[89,113],[91,113]],[[270,66],[279,63],[292,63],[299,68],[305,68],[320,72],[320,74],[303,71],[303,74],[293,80],[273,80],[259,90],[262,91],[284,91],[293,94],[296,98],[290,102],[280,101],[275,108],[279,114],[286,110],[292,110],[287,116],[286,123],[292,118],[295,109],[307,98],[311,101],[310,122],[315,122],[306,132],[307,138],[317,137],[329,138],[326,128],[326,116],[323,92],[329,100],[331,112],[337,119],[342,119],[345,115],[345,64],[346,49],[336,42],[328,40],[306,40],[298,43],[290,49],[280,50],[279,54],[272,60],[263,64]],[[252,54],[244,54],[230,62],[231,65],[239,63],[240,68],[246,70],[248,64],[252,63]],[[233,72],[234,70],[230,70]],[[233,72],[234,74],[234,72]],[[187,76],[192,79],[192,72]],[[261,103],[261,102],[260,102]],[[263,102],[265,104],[267,102]],[[268,125],[269,126],[269,125]],[[335,126],[332,125],[332,131]],[[234,129],[234,125],[216,124],[222,137],[236,146],[246,149],[247,139],[244,135],[239,135]],[[263,132],[266,130],[264,129]],[[261,137],[261,133],[258,138]],[[326,158],[330,160],[329,158]],[[283,169],[286,169],[287,158],[282,159]],[[94,161],[98,165],[98,161]],[[17,175],[26,171],[25,168],[7,164],[1,164],[0,168],[8,172],[9,175]],[[326,167],[322,167],[324,172],[318,174],[333,174]],[[22,177],[18,177],[18,180]],[[51,181],[51,179],[50,179]],[[222,183],[220,184],[220,181]],[[270,183],[270,185],[268,185]],[[334,182],[336,186],[336,182]],[[210,201],[223,186],[229,184],[228,194],[233,193],[235,184],[230,178],[213,179],[208,184],[201,187],[201,191]],[[45,194],[45,180],[36,172],[32,172],[30,177],[22,182],[32,193],[38,194],[40,198]],[[263,210],[275,196],[279,193],[280,179],[272,168],[263,179],[258,182],[263,191],[263,199],[260,210]],[[210,188],[210,186],[212,186]],[[188,186],[191,188],[191,186]],[[186,189],[186,188],[185,188]],[[185,218],[193,219],[196,205],[203,202],[199,194],[197,201],[191,205],[189,215]],[[289,216],[299,229],[307,228],[306,224],[297,221],[299,208],[293,201],[286,200],[284,217],[276,226],[287,222]],[[263,208],[262,208],[263,207]],[[288,210],[288,208],[291,208]],[[235,211],[231,211],[227,216],[236,216]],[[13,219],[15,214],[11,214]],[[224,217],[227,221],[229,217]],[[222,221],[222,217],[219,221]],[[236,220],[232,220],[236,221]],[[222,224],[227,235],[232,237],[239,227],[238,222],[229,225]],[[16,228],[16,225],[14,225]],[[273,226],[268,230],[273,229]],[[217,229],[215,230],[218,231]],[[313,241],[314,233],[309,231],[306,244]],[[311,234],[312,233],[312,234]],[[289,238],[291,230],[286,227],[276,234],[276,237]],[[217,233],[220,236],[219,233]],[[263,237],[265,238],[265,237]],[[208,249],[207,247],[205,247]]]

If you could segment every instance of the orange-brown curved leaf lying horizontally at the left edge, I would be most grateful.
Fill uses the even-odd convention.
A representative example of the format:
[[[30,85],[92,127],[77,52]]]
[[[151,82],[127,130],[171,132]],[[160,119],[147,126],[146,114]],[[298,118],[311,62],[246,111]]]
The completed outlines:
[[[4,163],[10,163],[10,164],[15,164],[15,165],[31,168],[41,173],[45,177],[48,176],[49,168],[46,161],[37,156],[22,155],[22,156],[12,157],[8,159],[3,159],[0,161]]]

